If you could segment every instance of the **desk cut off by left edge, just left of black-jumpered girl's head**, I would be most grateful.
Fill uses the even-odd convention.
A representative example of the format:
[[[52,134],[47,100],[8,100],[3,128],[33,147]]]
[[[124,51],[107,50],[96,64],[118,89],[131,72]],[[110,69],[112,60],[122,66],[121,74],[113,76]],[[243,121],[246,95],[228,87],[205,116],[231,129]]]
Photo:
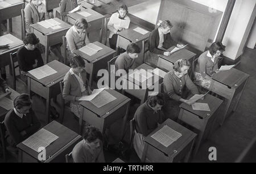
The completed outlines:
[[[0,67],[1,68],[10,64],[10,53],[16,52],[19,49],[19,47],[23,45],[22,40],[16,38],[11,34],[0,36],[0,44],[5,44],[5,43],[1,43],[2,37],[6,37],[7,39],[10,39],[11,41],[13,41],[13,43],[9,44],[9,48],[0,49]]]

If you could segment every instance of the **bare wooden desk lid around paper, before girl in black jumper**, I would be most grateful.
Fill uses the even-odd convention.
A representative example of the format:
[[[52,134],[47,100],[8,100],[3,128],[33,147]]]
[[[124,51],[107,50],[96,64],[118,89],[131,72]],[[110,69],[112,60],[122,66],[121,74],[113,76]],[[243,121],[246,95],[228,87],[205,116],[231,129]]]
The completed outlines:
[[[48,86],[50,84],[54,84],[55,81],[58,81],[59,79],[63,78],[65,74],[69,71],[70,67],[67,65],[60,63],[57,60],[53,60],[47,64],[49,67],[55,69],[57,73],[52,74],[51,76],[47,76],[41,79],[36,78],[35,76],[32,76],[32,74],[27,73],[26,75],[30,78],[32,78],[35,81],[38,81],[40,84],[44,86]]]

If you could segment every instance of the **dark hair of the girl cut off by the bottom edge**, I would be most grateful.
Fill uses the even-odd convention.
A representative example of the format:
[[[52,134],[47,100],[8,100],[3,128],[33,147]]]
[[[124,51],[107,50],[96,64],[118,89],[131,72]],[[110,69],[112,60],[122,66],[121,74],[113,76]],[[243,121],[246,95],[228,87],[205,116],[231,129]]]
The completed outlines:
[[[86,126],[84,128],[84,134],[82,136],[84,140],[87,140],[89,143],[94,142],[96,139],[103,140],[103,135],[99,129],[94,126]]]

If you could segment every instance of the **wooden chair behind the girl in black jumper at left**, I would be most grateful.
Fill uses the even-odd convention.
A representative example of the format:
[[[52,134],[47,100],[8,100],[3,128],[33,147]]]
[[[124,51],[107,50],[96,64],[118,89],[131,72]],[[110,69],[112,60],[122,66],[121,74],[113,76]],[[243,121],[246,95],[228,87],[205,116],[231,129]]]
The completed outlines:
[[[16,80],[19,80],[22,82],[24,85],[27,86],[27,82],[22,80],[22,74],[20,74],[20,69],[19,69],[19,74],[16,76],[16,68],[19,68],[19,64],[15,65],[15,62],[18,62],[17,59],[17,52],[10,53],[10,70],[13,78],[13,89],[16,90]]]

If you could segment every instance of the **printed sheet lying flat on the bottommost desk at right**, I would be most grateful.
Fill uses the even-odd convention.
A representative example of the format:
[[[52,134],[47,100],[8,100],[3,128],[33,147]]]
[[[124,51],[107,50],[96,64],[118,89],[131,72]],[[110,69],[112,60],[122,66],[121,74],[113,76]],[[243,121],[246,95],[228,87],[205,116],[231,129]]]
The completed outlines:
[[[153,139],[158,141],[160,144],[163,144],[165,147],[170,146],[181,136],[182,134],[180,134],[180,132],[171,129],[171,127],[167,125],[164,125],[160,130],[155,132],[155,134],[151,135]]]

